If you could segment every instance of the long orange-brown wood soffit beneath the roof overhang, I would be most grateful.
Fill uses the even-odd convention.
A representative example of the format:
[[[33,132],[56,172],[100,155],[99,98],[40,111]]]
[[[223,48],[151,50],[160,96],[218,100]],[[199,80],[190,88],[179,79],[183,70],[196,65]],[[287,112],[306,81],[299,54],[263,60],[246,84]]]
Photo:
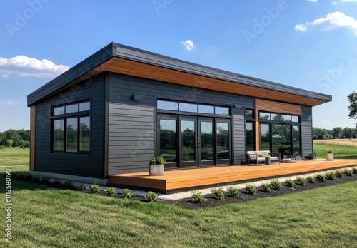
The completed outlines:
[[[198,76],[192,73],[175,71],[169,68],[153,66],[146,63],[131,61],[125,58],[117,57],[111,58],[109,59],[109,61],[106,61],[100,66],[93,68],[91,71],[89,71],[89,73],[84,74],[83,76],[76,79],[76,81],[70,83],[68,87],[80,81],[84,81],[87,78],[90,78],[91,76],[96,76],[97,74],[103,71],[111,71],[114,73],[121,73],[129,76],[149,78],[157,81],[164,81],[166,83],[176,83],[183,86],[191,86],[194,88],[203,88],[213,91],[234,93],[238,95],[248,95],[256,98],[284,101],[286,103],[312,106],[326,103],[325,100],[318,100],[315,98],[308,98],[301,95],[294,95],[293,93],[272,91],[254,86],[246,86],[242,83],[233,83],[230,81],[223,81],[216,78]]]

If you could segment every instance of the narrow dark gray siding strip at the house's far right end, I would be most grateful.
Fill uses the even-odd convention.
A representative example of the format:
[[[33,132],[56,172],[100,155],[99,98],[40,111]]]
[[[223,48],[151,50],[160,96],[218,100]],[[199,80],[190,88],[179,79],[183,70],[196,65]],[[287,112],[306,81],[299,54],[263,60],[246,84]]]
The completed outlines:
[[[312,108],[301,105],[301,147],[302,155],[313,152]]]

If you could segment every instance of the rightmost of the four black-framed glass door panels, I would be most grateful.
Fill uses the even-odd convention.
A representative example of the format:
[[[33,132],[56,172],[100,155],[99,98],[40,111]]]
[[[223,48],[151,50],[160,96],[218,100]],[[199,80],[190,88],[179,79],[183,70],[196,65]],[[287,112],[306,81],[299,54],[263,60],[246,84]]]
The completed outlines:
[[[217,164],[229,163],[231,159],[231,139],[229,121],[216,121]],[[220,161],[221,160],[221,161]]]

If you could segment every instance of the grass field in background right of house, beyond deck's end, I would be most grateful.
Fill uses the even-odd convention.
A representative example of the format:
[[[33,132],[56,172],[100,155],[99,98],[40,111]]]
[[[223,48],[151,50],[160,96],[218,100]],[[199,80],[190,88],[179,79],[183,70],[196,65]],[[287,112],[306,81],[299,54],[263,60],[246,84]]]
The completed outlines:
[[[313,150],[317,157],[326,157],[333,150],[335,158],[357,159],[357,139],[313,140]]]

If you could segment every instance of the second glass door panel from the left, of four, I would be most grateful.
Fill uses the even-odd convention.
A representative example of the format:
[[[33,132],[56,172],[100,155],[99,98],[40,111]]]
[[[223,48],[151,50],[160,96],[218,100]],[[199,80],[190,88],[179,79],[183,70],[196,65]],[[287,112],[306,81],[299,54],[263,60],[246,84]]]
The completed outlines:
[[[197,118],[195,118],[197,120]],[[198,146],[196,145],[196,123],[194,119],[181,118],[180,122],[180,145],[181,145],[181,162],[180,167],[197,166]]]

